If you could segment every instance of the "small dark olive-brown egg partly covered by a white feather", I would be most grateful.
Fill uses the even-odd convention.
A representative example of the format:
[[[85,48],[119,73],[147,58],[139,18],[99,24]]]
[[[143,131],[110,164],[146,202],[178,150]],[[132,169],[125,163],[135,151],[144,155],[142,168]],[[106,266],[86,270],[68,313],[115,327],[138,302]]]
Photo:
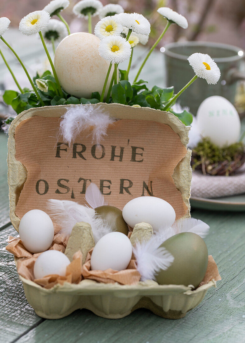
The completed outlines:
[[[114,206],[104,205],[95,208],[102,219],[106,220],[111,225],[113,231],[128,234],[128,226],[122,216],[122,211]]]

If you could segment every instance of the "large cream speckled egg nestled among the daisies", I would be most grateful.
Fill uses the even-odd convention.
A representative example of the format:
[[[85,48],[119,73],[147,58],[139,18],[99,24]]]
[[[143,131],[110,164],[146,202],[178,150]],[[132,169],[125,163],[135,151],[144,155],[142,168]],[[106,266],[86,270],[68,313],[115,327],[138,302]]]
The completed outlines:
[[[54,55],[54,67],[62,88],[78,98],[101,94],[109,68],[109,61],[99,56],[99,38],[86,32],[66,36]],[[113,67],[107,83],[109,88]]]

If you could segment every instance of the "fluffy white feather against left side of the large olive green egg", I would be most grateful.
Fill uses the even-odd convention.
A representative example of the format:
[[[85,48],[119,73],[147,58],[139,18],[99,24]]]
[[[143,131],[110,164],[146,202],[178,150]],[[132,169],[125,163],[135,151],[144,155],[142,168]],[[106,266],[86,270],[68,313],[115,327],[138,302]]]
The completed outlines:
[[[137,270],[141,281],[155,280],[155,275],[160,270],[166,270],[173,263],[174,257],[168,250],[157,243],[153,236],[148,241],[137,242],[133,247],[136,258]]]

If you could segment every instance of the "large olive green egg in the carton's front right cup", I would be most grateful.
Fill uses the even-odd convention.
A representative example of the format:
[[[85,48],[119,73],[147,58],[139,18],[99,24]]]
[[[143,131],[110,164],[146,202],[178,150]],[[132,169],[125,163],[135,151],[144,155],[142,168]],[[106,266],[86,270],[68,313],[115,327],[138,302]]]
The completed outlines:
[[[170,237],[160,247],[166,248],[174,261],[167,270],[156,275],[157,282],[160,285],[198,287],[208,267],[208,249],[204,240],[192,232],[183,232]]]

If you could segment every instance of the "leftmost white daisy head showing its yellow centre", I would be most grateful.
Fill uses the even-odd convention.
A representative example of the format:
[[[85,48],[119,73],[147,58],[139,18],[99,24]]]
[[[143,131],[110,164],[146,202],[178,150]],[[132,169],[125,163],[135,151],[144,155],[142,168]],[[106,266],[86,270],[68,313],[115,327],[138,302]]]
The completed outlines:
[[[46,11],[31,12],[21,19],[19,30],[23,35],[31,36],[43,30],[49,20],[50,15]]]

